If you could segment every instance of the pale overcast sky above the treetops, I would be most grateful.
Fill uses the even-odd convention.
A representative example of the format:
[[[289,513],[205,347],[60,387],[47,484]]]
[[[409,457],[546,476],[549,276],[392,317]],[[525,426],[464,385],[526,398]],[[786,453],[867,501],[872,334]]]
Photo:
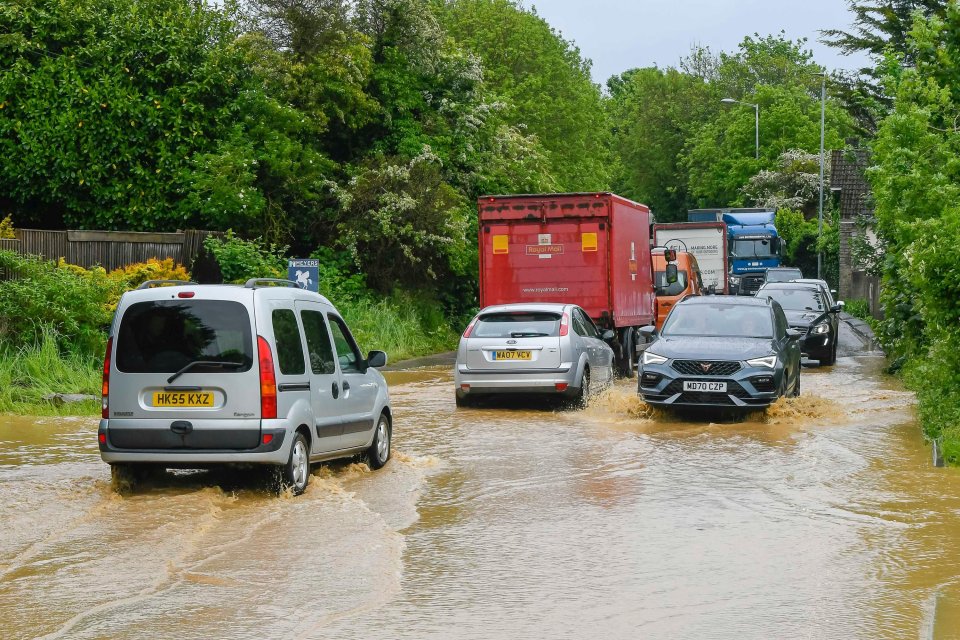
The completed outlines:
[[[593,79],[633,67],[677,66],[693,44],[714,53],[734,51],[759,33],[807,38],[814,60],[828,69],[863,66],[863,56],[842,56],[817,42],[820,29],[848,29],[843,0],[523,0],[573,40],[593,61]]]

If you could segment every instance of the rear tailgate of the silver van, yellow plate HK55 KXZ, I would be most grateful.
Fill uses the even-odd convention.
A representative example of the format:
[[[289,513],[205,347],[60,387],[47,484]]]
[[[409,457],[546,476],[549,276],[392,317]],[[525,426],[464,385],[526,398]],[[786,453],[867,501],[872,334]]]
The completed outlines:
[[[249,292],[197,287],[128,294],[116,324],[109,396],[118,449],[254,449],[260,442]],[[216,288],[224,292],[226,288]],[[246,303],[245,303],[246,302]]]

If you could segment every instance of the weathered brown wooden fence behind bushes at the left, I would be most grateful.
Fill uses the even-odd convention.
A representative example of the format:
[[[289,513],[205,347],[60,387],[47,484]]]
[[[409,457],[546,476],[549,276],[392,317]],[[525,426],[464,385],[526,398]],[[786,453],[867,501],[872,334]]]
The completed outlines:
[[[189,269],[204,239],[222,235],[219,231],[192,229],[176,233],[17,229],[14,233],[16,240],[0,240],[0,249],[48,260],[63,258],[84,268],[100,265],[107,271],[148,258],[173,258]]]

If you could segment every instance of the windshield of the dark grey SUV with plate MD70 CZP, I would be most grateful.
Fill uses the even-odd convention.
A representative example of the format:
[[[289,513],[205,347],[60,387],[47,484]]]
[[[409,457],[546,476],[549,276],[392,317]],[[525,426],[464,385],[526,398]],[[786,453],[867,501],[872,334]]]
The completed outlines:
[[[768,307],[737,304],[679,304],[660,332],[664,336],[773,337]]]

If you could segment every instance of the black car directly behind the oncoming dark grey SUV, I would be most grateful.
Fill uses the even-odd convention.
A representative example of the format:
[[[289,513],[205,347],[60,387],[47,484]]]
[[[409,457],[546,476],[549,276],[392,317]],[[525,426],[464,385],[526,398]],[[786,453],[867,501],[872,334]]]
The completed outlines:
[[[772,282],[760,287],[757,297],[769,297],[780,303],[790,326],[803,333],[800,343],[804,355],[822,365],[837,361],[840,332],[839,304],[831,300],[819,284]]]

